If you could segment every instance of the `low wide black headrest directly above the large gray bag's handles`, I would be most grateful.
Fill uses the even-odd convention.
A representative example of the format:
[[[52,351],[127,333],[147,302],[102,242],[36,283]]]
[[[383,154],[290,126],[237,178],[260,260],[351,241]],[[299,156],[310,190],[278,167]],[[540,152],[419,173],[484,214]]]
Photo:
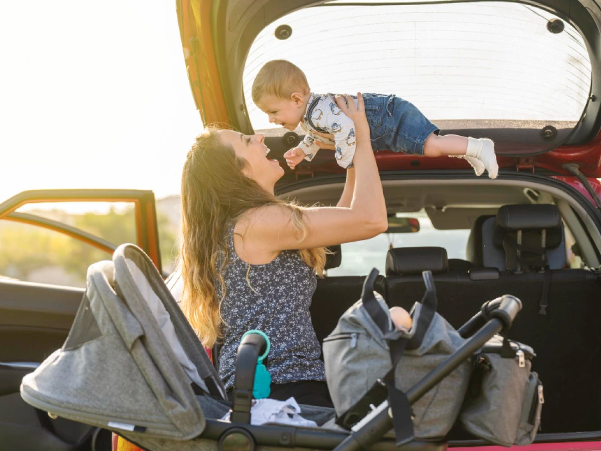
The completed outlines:
[[[398,247],[386,254],[386,275],[447,272],[447,250],[442,247]]]

